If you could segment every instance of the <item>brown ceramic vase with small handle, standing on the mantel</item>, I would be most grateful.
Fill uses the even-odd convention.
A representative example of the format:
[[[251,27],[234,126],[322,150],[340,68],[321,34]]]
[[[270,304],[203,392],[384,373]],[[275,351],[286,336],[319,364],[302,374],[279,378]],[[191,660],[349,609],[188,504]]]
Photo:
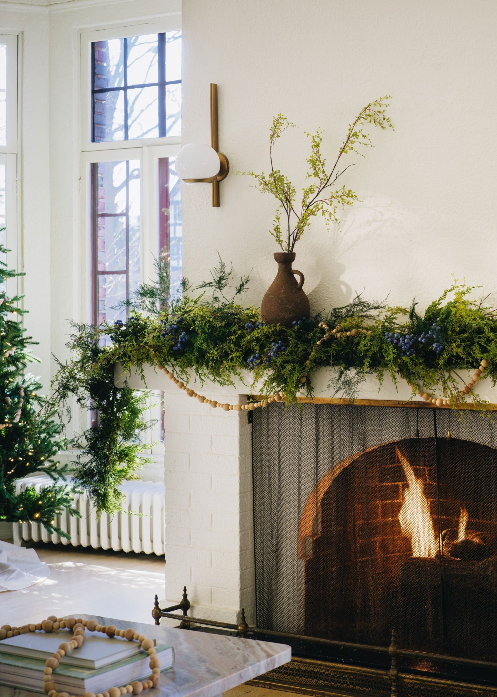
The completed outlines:
[[[293,321],[310,315],[309,299],[302,290],[303,273],[292,268],[295,252],[275,252],[274,259],[278,262],[278,273],[262,298],[260,312],[267,324],[291,327]],[[299,282],[295,275],[299,276]]]

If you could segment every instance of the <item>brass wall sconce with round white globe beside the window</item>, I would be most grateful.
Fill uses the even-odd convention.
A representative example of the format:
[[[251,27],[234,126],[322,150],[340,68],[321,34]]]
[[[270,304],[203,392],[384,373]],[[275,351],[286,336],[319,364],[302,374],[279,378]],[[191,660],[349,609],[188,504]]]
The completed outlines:
[[[176,174],[185,184],[212,183],[212,206],[219,208],[219,182],[230,171],[230,163],[219,153],[217,121],[217,85],[210,85],[210,146],[204,143],[188,143],[176,155]]]

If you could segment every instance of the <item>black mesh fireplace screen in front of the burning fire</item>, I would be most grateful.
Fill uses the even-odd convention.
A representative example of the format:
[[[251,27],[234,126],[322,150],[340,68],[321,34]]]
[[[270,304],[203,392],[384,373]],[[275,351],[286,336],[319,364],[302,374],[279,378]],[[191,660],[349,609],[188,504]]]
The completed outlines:
[[[497,661],[496,448],[471,413],[256,410],[258,626]]]

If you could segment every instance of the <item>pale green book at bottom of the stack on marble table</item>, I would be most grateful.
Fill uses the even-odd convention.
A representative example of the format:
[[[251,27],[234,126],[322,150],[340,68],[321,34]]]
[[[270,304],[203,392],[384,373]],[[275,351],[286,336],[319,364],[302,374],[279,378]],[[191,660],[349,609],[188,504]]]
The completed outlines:
[[[45,661],[29,656],[3,653],[1,650],[0,644],[0,684],[42,693]],[[172,668],[173,647],[157,644],[155,650],[161,662],[161,671]],[[100,668],[74,666],[61,661],[54,671],[54,682],[58,692],[69,694],[104,692],[110,687],[121,687],[134,680],[144,680],[152,672],[148,666],[149,662],[150,656],[143,650],[120,661],[113,660],[111,664]]]

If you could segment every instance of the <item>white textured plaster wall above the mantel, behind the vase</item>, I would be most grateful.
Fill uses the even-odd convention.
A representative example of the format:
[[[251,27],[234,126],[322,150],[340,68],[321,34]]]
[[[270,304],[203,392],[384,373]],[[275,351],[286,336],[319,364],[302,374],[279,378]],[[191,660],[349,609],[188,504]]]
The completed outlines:
[[[314,310],[354,291],[425,307],[452,284],[496,290],[497,5],[491,0],[183,0],[184,141],[208,141],[209,83],[219,84],[220,149],[231,171],[221,208],[209,187],[184,187],[184,272],[204,279],[216,250],[239,273],[253,267],[248,300],[259,304],[276,273],[268,229],[276,208],[237,170],[269,167],[271,119],[299,129],[274,148],[303,185],[308,139],[324,129],[336,155],[347,125],[370,100],[392,94],[395,132],[343,182],[361,204],[342,231],[315,220],[295,268]]]

